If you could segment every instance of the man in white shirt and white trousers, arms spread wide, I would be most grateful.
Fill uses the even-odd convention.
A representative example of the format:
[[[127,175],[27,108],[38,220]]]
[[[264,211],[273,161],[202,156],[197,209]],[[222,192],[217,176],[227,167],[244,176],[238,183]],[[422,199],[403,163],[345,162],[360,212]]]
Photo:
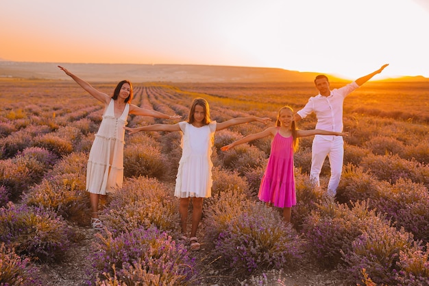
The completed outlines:
[[[342,132],[343,131],[343,102],[347,95],[365,84],[374,75],[381,73],[389,64],[380,69],[358,78],[341,88],[330,90],[326,75],[317,75],[315,85],[319,94],[310,97],[302,110],[295,114],[295,122],[315,112],[317,124],[315,129]],[[310,180],[320,187],[319,175],[326,156],[329,158],[331,176],[328,183],[328,195],[334,197],[343,170],[344,141],[343,136],[315,135],[312,141]]]

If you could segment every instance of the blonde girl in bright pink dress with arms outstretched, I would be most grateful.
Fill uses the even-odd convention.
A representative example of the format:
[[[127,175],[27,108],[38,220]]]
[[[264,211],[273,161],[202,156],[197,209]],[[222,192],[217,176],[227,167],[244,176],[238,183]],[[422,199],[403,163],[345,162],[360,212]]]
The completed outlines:
[[[230,150],[236,145],[247,143],[267,136],[273,136],[271,154],[267,169],[260,182],[258,198],[283,208],[283,217],[291,222],[292,206],[297,203],[295,195],[295,175],[293,173],[293,152],[296,150],[298,137],[315,134],[347,136],[348,132],[331,132],[326,130],[297,130],[293,121],[293,109],[289,106],[280,108],[276,126],[262,132],[250,134],[230,145],[221,147],[222,151]]]

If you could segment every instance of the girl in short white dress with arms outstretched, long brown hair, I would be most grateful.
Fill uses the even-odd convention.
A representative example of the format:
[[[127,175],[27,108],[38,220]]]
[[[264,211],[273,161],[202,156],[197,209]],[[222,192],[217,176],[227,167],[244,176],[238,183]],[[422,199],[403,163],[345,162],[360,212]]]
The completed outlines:
[[[193,213],[190,243],[191,250],[199,250],[197,228],[201,220],[203,198],[211,196],[212,187],[212,147],[215,132],[237,124],[258,121],[268,123],[265,117],[238,117],[217,123],[210,121],[208,102],[204,98],[195,98],[189,110],[188,121],[176,124],[154,124],[140,128],[128,128],[130,134],[139,131],[181,131],[182,158],[177,170],[174,195],[180,198],[179,213],[182,226],[182,238],[187,239],[186,223],[188,221],[189,198],[193,198]]]

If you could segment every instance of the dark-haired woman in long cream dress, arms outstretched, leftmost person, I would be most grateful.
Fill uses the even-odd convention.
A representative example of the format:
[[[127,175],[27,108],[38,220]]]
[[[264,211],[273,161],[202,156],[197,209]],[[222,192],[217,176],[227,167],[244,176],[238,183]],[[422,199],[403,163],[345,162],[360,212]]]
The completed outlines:
[[[129,114],[151,116],[164,119],[177,119],[179,115],[165,115],[156,110],[140,108],[130,104],[132,84],[123,80],[117,84],[113,96],[97,91],[88,82],[58,66],[79,86],[104,104],[103,119],[95,135],[86,169],[86,191],[90,193],[91,226],[96,230],[103,228],[98,217],[100,195],[112,193],[122,187],[123,182],[123,145],[125,144],[123,127],[127,124]]]

